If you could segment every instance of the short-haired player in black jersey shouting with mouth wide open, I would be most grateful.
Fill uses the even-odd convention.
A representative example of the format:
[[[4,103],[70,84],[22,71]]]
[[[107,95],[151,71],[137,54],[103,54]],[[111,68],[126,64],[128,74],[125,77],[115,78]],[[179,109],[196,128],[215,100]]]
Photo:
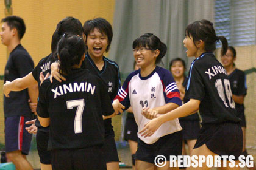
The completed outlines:
[[[88,52],[85,55],[85,60],[82,63],[82,68],[89,69],[91,73],[102,78],[108,88],[108,95],[113,100],[118,93],[120,87],[120,73],[118,64],[115,61],[109,60],[104,56],[105,52],[110,49],[110,44],[113,37],[112,26],[104,18],[95,18],[88,20],[84,24],[84,33],[86,35],[85,45]],[[57,72],[57,63],[52,64],[52,77],[61,81],[65,80]],[[107,162],[108,170],[119,169],[119,158],[115,144],[115,133],[111,124],[111,118],[105,117],[105,144],[104,157]]]

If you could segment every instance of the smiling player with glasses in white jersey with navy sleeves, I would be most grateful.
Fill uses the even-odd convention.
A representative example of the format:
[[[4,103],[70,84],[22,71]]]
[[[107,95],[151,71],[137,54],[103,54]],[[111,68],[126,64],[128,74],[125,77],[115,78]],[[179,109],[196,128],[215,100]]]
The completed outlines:
[[[135,39],[132,44],[133,55],[140,67],[126,78],[116,98],[126,107],[132,106],[138,131],[141,131],[149,119],[141,115],[148,108],[148,117],[165,114],[182,104],[179,90],[169,70],[156,66],[165,56],[166,45],[160,39],[146,33]],[[138,134],[138,149],[135,155],[136,169],[160,169],[155,163],[157,155],[182,154],[182,128],[175,119],[163,124],[152,137],[144,138]],[[161,169],[170,169],[166,163]],[[172,168],[179,169],[179,168]]]

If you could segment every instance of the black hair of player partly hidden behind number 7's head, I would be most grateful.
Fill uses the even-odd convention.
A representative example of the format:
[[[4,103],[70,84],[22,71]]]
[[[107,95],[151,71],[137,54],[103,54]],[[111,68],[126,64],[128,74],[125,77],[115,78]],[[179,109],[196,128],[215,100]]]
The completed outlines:
[[[83,35],[82,23],[78,19],[72,16],[68,16],[62,19],[62,21],[60,21],[57,24],[56,30],[52,35],[52,44],[51,44],[52,55],[54,56],[55,59],[57,59],[57,44],[60,41],[60,38],[62,38],[62,36],[64,35],[64,33],[68,35],[79,35],[82,37]]]

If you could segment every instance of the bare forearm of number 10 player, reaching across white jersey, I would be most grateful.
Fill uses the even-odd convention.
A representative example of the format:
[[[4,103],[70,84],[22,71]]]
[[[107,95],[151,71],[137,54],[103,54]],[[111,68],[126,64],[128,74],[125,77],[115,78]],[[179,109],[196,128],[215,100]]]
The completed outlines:
[[[176,118],[185,117],[191,114],[194,114],[199,109],[200,101],[199,100],[190,100],[188,103],[183,104],[171,112],[168,112],[164,115],[158,117],[158,120],[162,123],[167,121],[174,120]]]

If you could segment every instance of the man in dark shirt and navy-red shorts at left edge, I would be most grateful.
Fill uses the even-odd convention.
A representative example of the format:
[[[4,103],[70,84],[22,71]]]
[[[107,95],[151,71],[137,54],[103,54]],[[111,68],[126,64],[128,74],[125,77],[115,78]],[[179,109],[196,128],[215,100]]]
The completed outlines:
[[[4,70],[4,82],[8,82],[30,73],[34,69],[34,62],[27,50],[20,44],[26,31],[23,19],[18,16],[7,16],[1,22],[3,23],[0,32],[1,41],[10,52]],[[4,97],[5,150],[7,158],[20,170],[33,169],[26,160],[32,134],[25,130],[25,127],[29,126],[25,122],[32,120],[33,115],[28,100],[36,103],[37,97],[36,86],[21,92],[11,92],[9,97]]]

